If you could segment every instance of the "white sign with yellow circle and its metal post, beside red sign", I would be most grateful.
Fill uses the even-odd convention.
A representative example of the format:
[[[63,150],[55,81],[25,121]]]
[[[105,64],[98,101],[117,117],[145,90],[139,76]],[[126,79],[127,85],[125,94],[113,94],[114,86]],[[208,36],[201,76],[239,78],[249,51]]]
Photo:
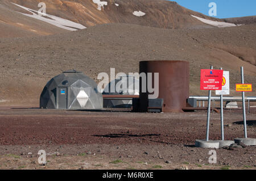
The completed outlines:
[[[222,68],[220,68],[222,70]],[[224,141],[224,117],[223,117],[223,95],[229,95],[229,71],[223,71],[222,90],[216,90],[216,95],[220,95],[221,104],[221,140]]]

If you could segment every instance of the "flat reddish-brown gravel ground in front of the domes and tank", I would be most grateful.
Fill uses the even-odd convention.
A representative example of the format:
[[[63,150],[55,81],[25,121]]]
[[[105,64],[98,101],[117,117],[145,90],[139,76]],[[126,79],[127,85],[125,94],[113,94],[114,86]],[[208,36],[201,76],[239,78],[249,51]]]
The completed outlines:
[[[217,165],[208,165],[210,149],[193,147],[197,138],[205,138],[206,115],[1,107],[0,168],[255,169],[255,146],[218,149]],[[220,139],[219,116],[211,115],[212,140]],[[256,137],[255,117],[256,110],[247,115],[249,137]],[[240,121],[241,110],[225,110],[226,139],[243,137]],[[47,151],[46,167],[36,162],[40,149]]]

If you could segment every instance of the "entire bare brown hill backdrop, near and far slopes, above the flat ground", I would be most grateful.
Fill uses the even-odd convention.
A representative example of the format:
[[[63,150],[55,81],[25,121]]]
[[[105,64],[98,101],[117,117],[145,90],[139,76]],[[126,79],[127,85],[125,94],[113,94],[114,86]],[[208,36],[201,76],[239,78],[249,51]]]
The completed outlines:
[[[200,69],[210,65],[230,71],[230,95],[240,95],[234,90],[240,66],[245,82],[256,85],[254,17],[221,20],[162,0],[107,1],[101,10],[89,0],[46,1],[47,14],[87,27],[71,32],[28,17],[36,11],[11,2],[39,9],[39,1],[0,1],[0,104],[39,104],[44,85],[64,70],[83,71],[99,82],[97,75],[110,68],[138,72],[144,60],[189,61],[191,95],[207,94],[199,90]],[[246,25],[217,28],[191,15]],[[255,95],[255,89],[246,95]]]

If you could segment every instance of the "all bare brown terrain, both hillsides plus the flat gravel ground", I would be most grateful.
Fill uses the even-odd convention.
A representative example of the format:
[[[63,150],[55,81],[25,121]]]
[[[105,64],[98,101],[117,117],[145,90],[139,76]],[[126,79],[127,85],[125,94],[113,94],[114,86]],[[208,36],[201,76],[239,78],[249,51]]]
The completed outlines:
[[[243,66],[245,83],[253,85],[246,96],[255,96],[255,16],[216,19],[163,0],[106,0],[104,7],[92,0],[44,1],[48,15],[41,18],[87,27],[69,31],[39,20],[39,2],[0,1],[0,169],[256,168],[255,146],[217,149],[217,163],[209,164],[210,149],[193,146],[205,138],[205,111],[38,108],[43,87],[64,70],[82,71],[98,83],[101,72],[136,73],[145,60],[189,61],[190,95],[207,95],[200,91],[200,70],[213,65],[230,71],[230,95],[241,96],[235,85]],[[191,15],[241,26],[218,28]],[[248,136],[255,138],[255,108],[246,116]],[[242,110],[225,110],[224,117],[225,139],[243,137]],[[212,113],[210,139],[220,137],[220,114]],[[44,166],[37,162],[42,149]]]

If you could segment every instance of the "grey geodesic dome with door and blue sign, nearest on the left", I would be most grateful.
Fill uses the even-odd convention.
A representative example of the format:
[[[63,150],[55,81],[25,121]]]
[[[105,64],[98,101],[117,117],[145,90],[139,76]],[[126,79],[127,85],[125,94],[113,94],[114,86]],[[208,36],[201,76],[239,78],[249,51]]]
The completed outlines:
[[[91,110],[103,108],[97,84],[82,72],[63,71],[52,78],[40,96],[40,108],[60,110]]]

